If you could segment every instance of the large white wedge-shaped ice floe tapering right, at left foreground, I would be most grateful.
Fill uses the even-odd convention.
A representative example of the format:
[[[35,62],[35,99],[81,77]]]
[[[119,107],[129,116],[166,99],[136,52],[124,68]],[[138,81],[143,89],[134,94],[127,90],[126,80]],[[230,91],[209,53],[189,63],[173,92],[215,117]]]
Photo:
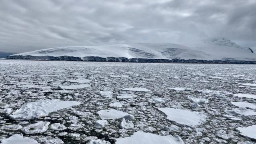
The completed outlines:
[[[50,112],[69,108],[71,106],[79,105],[76,101],[62,101],[62,100],[39,100],[36,102],[28,102],[10,115],[14,120],[29,120],[36,119],[43,116],[48,116]]]

